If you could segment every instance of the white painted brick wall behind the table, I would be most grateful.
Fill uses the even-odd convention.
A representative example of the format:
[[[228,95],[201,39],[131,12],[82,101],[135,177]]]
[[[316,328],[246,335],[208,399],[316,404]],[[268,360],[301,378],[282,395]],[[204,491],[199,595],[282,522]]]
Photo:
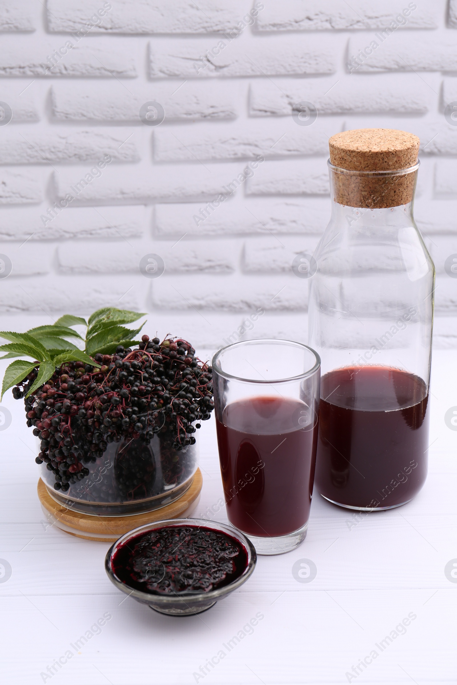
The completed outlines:
[[[421,138],[435,344],[457,346],[457,0],[0,1],[0,32],[1,326],[108,304],[214,348],[262,307],[245,336],[306,341],[291,261],[328,223],[328,138],[394,127]]]

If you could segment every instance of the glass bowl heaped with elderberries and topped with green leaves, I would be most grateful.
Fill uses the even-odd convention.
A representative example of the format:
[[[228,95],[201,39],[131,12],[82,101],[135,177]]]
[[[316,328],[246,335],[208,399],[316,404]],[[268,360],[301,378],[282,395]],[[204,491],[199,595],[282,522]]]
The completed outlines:
[[[182,338],[133,340],[143,325],[121,324],[140,316],[99,310],[88,323],[66,315],[27,334],[0,333],[14,340],[0,348],[10,356],[39,360],[10,364],[3,392],[14,385],[24,399],[49,495],[83,514],[153,511],[182,497],[197,471],[195,433],[214,408],[212,369]],[[81,338],[73,325],[87,326],[84,351],[62,351],[66,337]]]

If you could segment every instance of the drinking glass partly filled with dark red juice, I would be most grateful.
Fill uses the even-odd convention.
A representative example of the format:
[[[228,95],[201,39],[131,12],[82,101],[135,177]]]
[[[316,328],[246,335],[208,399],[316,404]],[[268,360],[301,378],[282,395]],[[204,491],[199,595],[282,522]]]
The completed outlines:
[[[317,450],[320,360],[288,340],[248,340],[212,360],[227,517],[260,554],[305,538]]]

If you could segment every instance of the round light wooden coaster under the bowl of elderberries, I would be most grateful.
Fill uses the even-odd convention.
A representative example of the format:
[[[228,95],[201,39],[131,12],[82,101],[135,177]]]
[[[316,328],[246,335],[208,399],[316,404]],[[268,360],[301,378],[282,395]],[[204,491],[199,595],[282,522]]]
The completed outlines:
[[[191,505],[197,504],[202,484],[201,471],[197,469],[190,488],[180,499],[152,512],[132,516],[90,516],[67,509],[52,499],[41,478],[38,481],[38,498],[48,521],[66,533],[84,540],[114,543],[121,535],[140,525],[183,516]]]

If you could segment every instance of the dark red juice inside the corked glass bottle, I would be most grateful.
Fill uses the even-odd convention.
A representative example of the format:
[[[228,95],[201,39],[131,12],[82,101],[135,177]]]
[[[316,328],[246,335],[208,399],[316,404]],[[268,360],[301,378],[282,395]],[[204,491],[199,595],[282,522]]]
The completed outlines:
[[[356,508],[415,497],[427,476],[428,390],[388,366],[353,366],[321,378],[316,488]]]

